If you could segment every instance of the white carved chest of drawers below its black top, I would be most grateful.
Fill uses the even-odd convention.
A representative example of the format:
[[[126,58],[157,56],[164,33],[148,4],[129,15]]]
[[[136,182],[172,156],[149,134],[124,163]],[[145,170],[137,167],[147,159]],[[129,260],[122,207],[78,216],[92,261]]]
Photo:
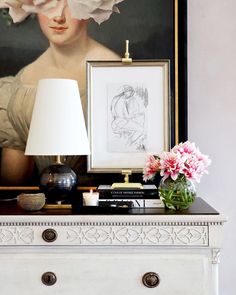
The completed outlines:
[[[0,215],[1,295],[217,295],[220,214]]]

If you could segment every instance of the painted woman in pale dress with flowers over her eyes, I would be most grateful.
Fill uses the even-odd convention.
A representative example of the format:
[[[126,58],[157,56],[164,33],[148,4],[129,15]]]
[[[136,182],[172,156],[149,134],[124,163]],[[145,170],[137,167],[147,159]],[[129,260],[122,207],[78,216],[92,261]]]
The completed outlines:
[[[117,11],[123,0],[0,0],[0,8],[10,8],[13,21],[22,21],[36,12],[42,32],[49,40],[48,49],[15,77],[0,79],[0,147],[2,184],[22,184],[32,174],[34,163],[39,172],[52,163],[50,157],[24,155],[31,114],[39,79],[68,78],[78,81],[82,106],[86,112],[86,61],[119,60],[119,56],[90,38],[90,18],[98,23]],[[65,102],[66,103],[66,102]],[[76,170],[78,157],[68,157]]]

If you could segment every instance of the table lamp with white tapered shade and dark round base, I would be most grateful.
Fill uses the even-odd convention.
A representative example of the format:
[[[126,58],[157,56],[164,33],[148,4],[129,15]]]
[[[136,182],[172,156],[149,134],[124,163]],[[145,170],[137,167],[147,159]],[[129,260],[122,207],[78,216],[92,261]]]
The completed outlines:
[[[39,80],[25,155],[55,156],[43,169],[40,188],[53,203],[61,202],[77,186],[75,172],[61,156],[90,152],[77,81]]]

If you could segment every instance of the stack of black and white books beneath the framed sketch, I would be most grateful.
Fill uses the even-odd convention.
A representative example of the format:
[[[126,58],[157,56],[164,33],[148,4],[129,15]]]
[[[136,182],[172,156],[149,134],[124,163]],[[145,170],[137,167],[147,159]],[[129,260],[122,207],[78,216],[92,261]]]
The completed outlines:
[[[142,189],[112,189],[110,185],[99,185],[99,204],[118,206],[119,203],[129,204],[129,207],[139,208],[163,208],[164,204],[159,198],[155,185],[143,185]]]

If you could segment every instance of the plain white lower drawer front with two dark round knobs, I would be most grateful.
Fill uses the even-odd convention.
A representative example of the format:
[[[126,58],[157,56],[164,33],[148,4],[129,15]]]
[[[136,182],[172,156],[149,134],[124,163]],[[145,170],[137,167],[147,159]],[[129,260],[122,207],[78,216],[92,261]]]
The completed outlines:
[[[0,254],[1,295],[210,293],[207,255],[47,252]]]

